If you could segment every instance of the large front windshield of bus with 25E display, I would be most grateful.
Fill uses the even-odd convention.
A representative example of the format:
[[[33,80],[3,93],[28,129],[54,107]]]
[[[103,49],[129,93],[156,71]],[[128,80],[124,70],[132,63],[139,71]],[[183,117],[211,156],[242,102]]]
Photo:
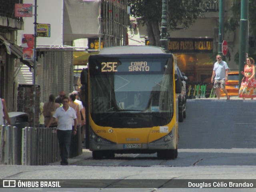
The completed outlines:
[[[174,113],[172,58],[90,61],[90,115],[99,126],[164,126]]]

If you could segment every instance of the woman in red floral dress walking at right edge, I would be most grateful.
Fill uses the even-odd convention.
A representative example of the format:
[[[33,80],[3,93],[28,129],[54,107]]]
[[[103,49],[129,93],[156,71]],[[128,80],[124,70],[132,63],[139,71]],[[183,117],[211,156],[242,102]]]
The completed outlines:
[[[244,72],[241,72],[244,75],[244,81],[242,81],[239,97],[251,98],[256,97],[256,80],[255,80],[255,66],[254,59],[249,57],[246,59],[246,65],[244,66]]]

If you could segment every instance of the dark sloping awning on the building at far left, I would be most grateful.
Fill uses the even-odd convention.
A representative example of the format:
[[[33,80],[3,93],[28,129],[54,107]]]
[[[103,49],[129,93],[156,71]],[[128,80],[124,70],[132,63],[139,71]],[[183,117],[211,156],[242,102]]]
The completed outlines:
[[[33,68],[34,62],[32,60],[23,60],[23,51],[22,51],[21,47],[19,47],[16,44],[10,43],[8,40],[3,38],[1,35],[0,35],[0,41],[3,42],[4,45],[6,46],[6,51],[8,54],[13,54],[14,57],[20,59],[20,62],[24,63],[29,68]]]

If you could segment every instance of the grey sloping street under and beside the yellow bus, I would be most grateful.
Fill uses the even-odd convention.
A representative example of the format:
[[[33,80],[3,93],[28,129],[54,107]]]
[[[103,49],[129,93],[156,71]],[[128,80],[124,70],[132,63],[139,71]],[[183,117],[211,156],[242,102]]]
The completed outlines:
[[[156,185],[136,188],[139,184],[119,186],[122,179],[256,179],[256,100],[188,100],[187,117],[179,123],[180,141],[176,160],[158,160],[156,154],[116,155],[114,160],[93,160],[92,154],[70,159],[70,166],[59,162],[49,166],[0,165],[1,179],[76,179],[70,186],[85,185],[79,179],[115,179],[98,188],[13,189],[12,191],[170,191]],[[249,181],[248,180],[248,181]],[[107,181],[107,180],[105,180]],[[255,182],[255,181],[254,181]],[[104,183],[104,182],[103,182]],[[63,183],[62,183],[63,184]],[[108,188],[108,187],[110,188]],[[95,187],[95,186],[94,186]],[[111,188],[112,187],[112,188]],[[256,187],[256,183],[254,184]],[[136,188],[135,190],[133,188]],[[118,190],[119,189],[119,190]],[[175,188],[175,191],[198,191]],[[0,191],[11,191],[2,190]],[[203,188],[200,191],[256,191],[256,188]]]

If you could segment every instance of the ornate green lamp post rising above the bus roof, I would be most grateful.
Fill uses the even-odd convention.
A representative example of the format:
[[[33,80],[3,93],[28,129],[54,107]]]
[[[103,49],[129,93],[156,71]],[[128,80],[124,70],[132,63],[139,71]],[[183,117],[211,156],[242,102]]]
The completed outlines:
[[[162,0],[162,22],[161,22],[161,39],[162,48],[166,53],[169,53],[168,49],[168,0]]]

